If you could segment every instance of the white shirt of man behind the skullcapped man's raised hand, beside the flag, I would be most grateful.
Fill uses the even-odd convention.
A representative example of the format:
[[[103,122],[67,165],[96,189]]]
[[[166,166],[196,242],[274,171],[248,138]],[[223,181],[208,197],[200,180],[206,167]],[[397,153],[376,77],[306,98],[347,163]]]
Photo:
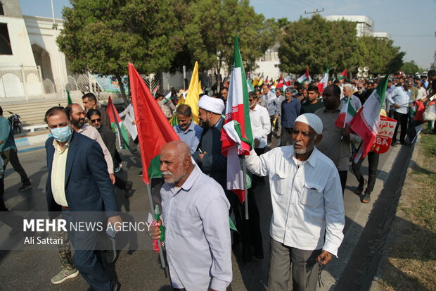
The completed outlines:
[[[254,138],[259,140],[259,149],[267,146],[267,136],[271,132],[271,121],[268,110],[259,104],[250,109],[251,131]]]

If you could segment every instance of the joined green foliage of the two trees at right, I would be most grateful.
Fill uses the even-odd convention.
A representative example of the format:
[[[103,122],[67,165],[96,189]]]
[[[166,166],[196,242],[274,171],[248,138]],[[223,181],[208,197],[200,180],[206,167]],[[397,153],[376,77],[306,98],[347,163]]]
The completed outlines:
[[[301,73],[306,66],[311,73],[323,73],[326,66],[336,73],[345,68],[357,73],[358,66],[368,66],[370,73],[384,74],[399,70],[404,54],[392,40],[357,38],[356,23],[319,15],[289,23],[278,49],[281,70],[289,73]]]

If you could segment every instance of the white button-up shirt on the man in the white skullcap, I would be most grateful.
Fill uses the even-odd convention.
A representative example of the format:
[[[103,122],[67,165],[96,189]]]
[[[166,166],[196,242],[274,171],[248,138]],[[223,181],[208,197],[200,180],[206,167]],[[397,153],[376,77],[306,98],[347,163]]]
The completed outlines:
[[[293,155],[292,146],[278,147],[262,156],[250,151],[246,160],[251,173],[269,175],[273,208],[269,234],[288,247],[322,248],[336,256],[345,225],[338,170],[316,148],[300,167]]]

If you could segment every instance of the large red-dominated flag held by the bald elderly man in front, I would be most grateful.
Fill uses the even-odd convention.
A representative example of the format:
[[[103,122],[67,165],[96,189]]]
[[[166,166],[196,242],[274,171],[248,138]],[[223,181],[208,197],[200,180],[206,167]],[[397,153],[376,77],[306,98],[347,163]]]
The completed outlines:
[[[160,150],[167,142],[179,140],[179,137],[132,63],[129,63],[129,80],[141,149],[142,180],[150,184],[151,178],[162,178]]]

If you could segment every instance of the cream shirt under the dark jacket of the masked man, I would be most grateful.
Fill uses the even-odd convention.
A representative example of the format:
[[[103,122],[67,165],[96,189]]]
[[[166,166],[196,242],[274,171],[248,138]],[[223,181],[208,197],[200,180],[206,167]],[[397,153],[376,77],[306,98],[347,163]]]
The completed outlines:
[[[70,140],[63,146],[63,149],[60,148],[57,140],[53,140],[55,152],[53,154],[53,163],[51,164],[51,192],[55,202],[65,207],[68,207],[67,198],[65,197],[65,168],[67,166]]]

